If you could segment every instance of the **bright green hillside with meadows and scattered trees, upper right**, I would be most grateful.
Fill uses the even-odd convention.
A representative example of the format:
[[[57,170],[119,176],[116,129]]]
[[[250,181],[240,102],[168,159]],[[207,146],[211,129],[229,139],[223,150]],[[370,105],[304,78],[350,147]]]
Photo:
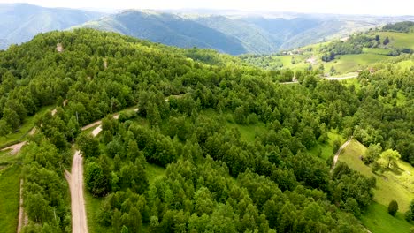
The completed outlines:
[[[392,26],[392,24],[387,26]],[[404,27],[406,32],[387,31],[387,29],[379,28],[364,33],[351,34],[342,40],[317,43],[275,55],[240,57],[249,64],[267,70],[314,69],[327,76],[338,76],[371,69],[374,64],[388,60],[391,62],[398,60],[397,56],[410,56],[414,51],[413,28]]]

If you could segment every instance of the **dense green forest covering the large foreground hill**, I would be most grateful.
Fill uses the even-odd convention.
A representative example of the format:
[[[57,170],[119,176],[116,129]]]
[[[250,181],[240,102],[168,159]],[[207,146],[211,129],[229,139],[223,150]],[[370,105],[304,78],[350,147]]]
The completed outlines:
[[[335,131],[414,165],[413,76],[388,65],[344,85],[92,29],[38,34],[0,52],[1,136],[57,106],[36,116],[22,150],[23,231],[72,231],[75,146],[86,189],[103,199],[96,222],[112,232],[364,232],[375,178],[309,151]],[[112,117],[128,108],[138,111]],[[99,119],[98,137],[81,132]],[[242,137],[249,125],[262,132]],[[154,165],[165,176],[150,182]]]

